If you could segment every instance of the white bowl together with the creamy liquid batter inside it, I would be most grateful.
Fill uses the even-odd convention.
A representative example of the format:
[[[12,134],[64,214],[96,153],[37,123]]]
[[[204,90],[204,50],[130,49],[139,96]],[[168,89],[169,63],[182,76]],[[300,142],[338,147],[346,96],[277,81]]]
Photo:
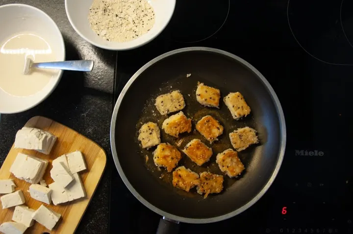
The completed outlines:
[[[25,4],[0,6],[0,113],[28,110],[42,102],[58,84],[62,70],[31,69],[25,60],[65,60],[65,45],[54,21]]]

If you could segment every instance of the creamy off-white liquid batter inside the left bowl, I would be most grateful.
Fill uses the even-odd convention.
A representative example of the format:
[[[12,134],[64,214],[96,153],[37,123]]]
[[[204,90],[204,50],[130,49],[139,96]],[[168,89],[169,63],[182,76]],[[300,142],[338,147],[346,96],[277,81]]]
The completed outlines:
[[[33,62],[56,61],[50,45],[34,34],[11,37],[0,46],[0,88],[14,96],[29,96],[41,91],[57,70],[31,69],[23,74],[25,59]]]

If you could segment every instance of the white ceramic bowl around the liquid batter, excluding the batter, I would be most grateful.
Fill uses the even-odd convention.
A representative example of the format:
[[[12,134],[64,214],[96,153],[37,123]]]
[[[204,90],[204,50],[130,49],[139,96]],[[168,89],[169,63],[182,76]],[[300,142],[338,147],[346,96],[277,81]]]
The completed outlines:
[[[2,5],[0,22],[0,45],[12,36],[33,33],[48,42],[56,55],[56,61],[65,60],[65,45],[61,32],[43,11],[24,4]],[[0,75],[1,69],[5,68],[1,68],[0,64]],[[0,113],[19,113],[38,105],[55,89],[61,75],[62,70],[58,70],[41,91],[31,96],[13,96],[0,89]]]

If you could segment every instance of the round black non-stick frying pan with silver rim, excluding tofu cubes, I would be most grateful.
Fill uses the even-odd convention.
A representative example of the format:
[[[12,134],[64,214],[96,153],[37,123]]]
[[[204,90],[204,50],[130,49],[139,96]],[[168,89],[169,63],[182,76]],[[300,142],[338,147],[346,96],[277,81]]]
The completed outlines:
[[[221,90],[220,109],[206,108],[196,101],[198,82]],[[153,164],[154,148],[143,150],[139,145],[137,132],[143,123],[153,121],[161,127],[167,118],[158,113],[154,99],[173,90],[183,94],[186,107],[182,111],[192,118],[193,129],[205,115],[217,118],[225,128],[212,145],[195,130],[178,139],[161,130],[162,142],[169,142],[179,150],[194,138],[212,146],[210,162],[197,166],[182,155],[179,165],[198,173],[222,174],[215,163],[215,155],[232,148],[229,132],[244,126],[257,130],[260,143],[238,154],[246,167],[245,172],[234,179],[224,175],[224,189],[220,194],[210,194],[203,199],[195,190],[185,192],[173,187],[172,173],[158,170]],[[229,92],[244,95],[252,109],[250,116],[238,121],[231,118],[222,98]],[[277,95],[252,65],[223,50],[188,47],[158,56],[129,79],[114,108],[110,143],[114,163],[126,187],[145,206],[163,216],[157,233],[173,233],[179,222],[217,222],[245,211],[260,199],[275,180],[282,163],[286,127]]]

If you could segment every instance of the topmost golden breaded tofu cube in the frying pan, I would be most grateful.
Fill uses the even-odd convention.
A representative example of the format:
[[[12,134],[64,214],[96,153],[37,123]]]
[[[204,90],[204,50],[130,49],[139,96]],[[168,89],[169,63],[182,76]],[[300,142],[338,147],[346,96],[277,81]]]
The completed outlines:
[[[203,83],[198,84],[196,100],[201,105],[218,108],[220,98],[221,92],[219,89],[206,86]]]

